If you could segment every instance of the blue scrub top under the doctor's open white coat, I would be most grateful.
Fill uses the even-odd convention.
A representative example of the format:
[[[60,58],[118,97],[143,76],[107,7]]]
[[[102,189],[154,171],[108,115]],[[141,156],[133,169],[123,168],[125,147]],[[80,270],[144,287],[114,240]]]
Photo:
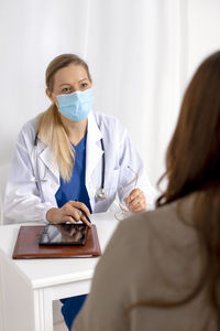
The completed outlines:
[[[78,200],[86,204],[89,209],[90,213],[91,206],[89,202],[89,195],[86,189],[86,140],[87,134],[79,141],[77,146],[74,143],[73,147],[75,149],[75,163],[72,173],[72,178],[68,182],[64,182],[61,178],[61,186],[57,190],[55,197],[58,207],[62,207],[69,200]]]

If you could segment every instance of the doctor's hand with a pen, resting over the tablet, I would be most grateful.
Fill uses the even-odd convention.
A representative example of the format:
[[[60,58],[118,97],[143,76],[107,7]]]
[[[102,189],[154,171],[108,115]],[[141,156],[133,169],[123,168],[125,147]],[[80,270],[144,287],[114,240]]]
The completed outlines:
[[[46,213],[46,220],[54,224],[66,222],[76,223],[78,221],[82,221],[86,225],[91,226],[80,210],[90,216],[88,207],[82,202],[70,200],[61,209],[53,207],[48,210]]]

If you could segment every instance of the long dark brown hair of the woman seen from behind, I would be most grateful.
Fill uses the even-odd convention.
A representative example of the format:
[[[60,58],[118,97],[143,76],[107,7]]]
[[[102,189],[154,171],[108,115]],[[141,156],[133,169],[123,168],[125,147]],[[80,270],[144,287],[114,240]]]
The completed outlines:
[[[178,302],[136,302],[172,308],[193,300],[209,284],[209,298],[220,317],[220,52],[205,60],[186,89],[177,126],[166,153],[168,180],[157,207],[197,192],[193,218],[206,259],[206,268],[194,291]],[[180,205],[180,204],[178,204]],[[220,327],[220,323],[219,323]]]

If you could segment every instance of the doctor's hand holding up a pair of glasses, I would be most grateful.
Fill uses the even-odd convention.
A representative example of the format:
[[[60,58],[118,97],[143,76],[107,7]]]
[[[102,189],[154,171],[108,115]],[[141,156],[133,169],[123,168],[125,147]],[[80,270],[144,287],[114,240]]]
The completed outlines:
[[[129,194],[129,197],[124,199],[127,207],[132,213],[141,213],[146,210],[146,199],[144,192],[140,189],[134,189]]]

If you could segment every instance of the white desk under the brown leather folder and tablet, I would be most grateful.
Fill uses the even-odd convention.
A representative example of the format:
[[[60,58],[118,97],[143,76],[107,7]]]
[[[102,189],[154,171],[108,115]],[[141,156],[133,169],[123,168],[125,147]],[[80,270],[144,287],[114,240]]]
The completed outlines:
[[[119,222],[112,213],[91,221],[103,252]],[[53,300],[88,293],[99,258],[12,259],[20,226],[0,226],[0,330],[53,331]]]

